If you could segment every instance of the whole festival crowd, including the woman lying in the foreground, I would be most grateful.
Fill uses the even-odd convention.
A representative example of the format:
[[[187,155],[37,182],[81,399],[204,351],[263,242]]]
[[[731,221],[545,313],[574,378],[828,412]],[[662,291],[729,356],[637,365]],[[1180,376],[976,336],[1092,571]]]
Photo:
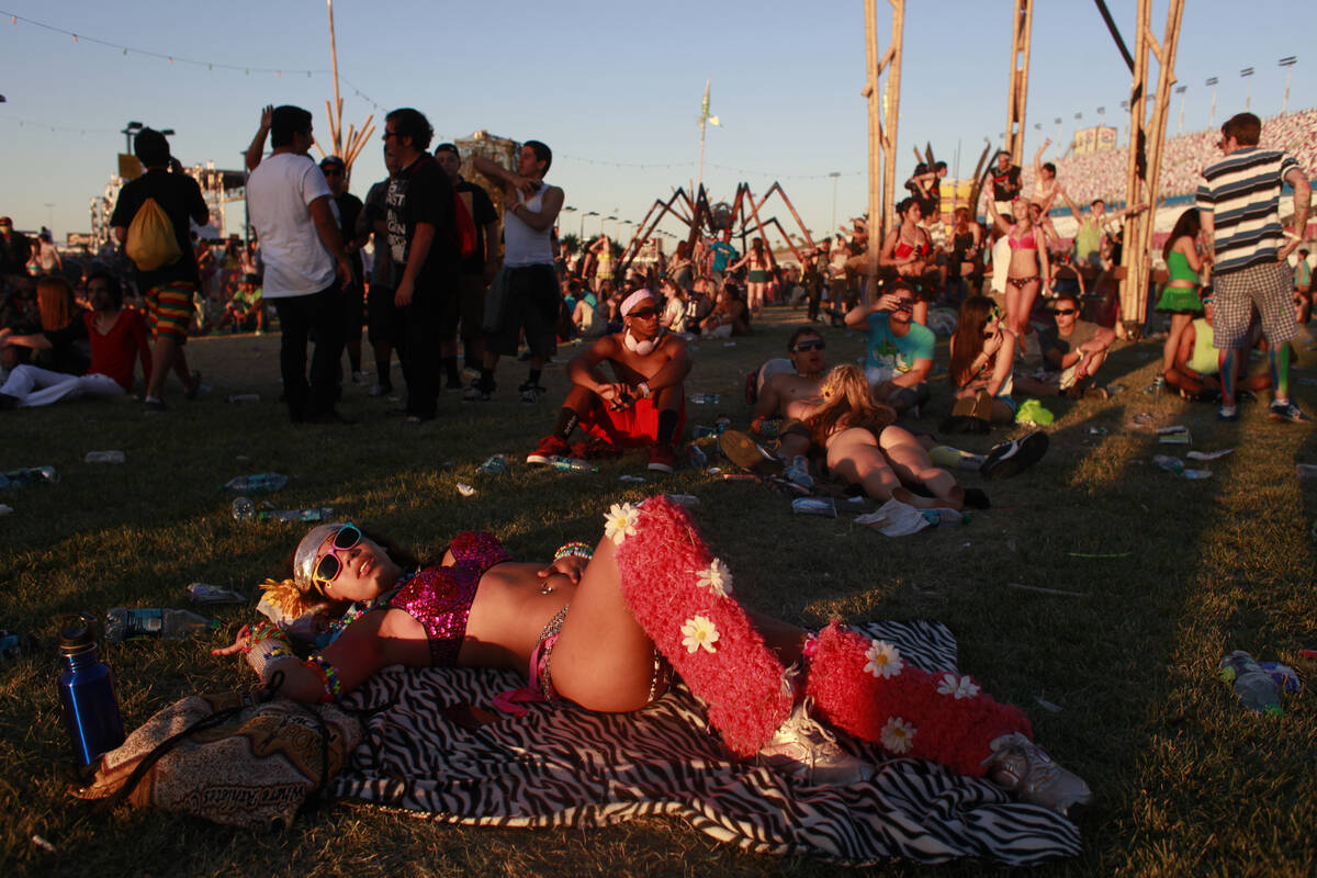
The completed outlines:
[[[1306,250],[1299,270],[1287,265],[1300,237],[1287,238],[1277,212],[1284,182],[1295,191],[1293,225],[1305,228],[1308,175],[1293,155],[1263,149],[1260,129],[1249,113],[1222,126],[1221,157],[1202,168],[1197,204],[1166,242],[1162,373],[1172,390],[1218,401],[1222,420],[1238,417],[1241,395],[1271,388],[1272,420],[1308,421],[1289,398],[1288,369],[1312,278]],[[195,396],[200,375],[188,369],[186,345],[198,297],[211,299],[215,283],[236,294],[213,315],[221,330],[263,329],[273,309],[283,401],[296,424],[349,423],[337,411],[341,362],[346,350],[349,380],[369,378],[363,328],[374,354],[370,392],[392,392],[396,355],[400,413],[416,424],[439,415],[445,391],[469,404],[494,399],[503,357],[523,354],[527,378],[516,391],[539,401],[551,392],[545,365],[560,344],[579,338],[549,433],[525,458],[539,466],[641,448],[649,470],[672,473],[693,340],[751,333],[773,305],[805,305],[807,320],[786,358],[749,376],[749,432],[726,432],[722,448],[799,494],[834,479],[882,503],[982,508],[985,492],[960,484],[957,473],[1008,478],[1046,454],[1038,430],[976,455],[914,423],[932,399],[938,334],[951,337],[954,407],[943,430],[1013,424],[1021,392],[1105,395],[1100,375],[1115,334],[1084,319],[1083,274],[1068,286],[1058,266],[1109,259],[1104,249],[1118,233],[1094,200],[1067,251],[1047,212],[1058,199],[1069,203],[1071,182],[1064,167],[1040,162],[1046,143],[1033,186],[1009,155],[994,158],[985,180],[990,225],[968,211],[944,225],[936,182],[946,166],[918,167],[896,205],[898,222],[872,242],[878,267],[867,290],[874,257],[864,217],[849,236],[810,249],[803,265],[782,265],[763,238],[740,253],[731,229],[691,234],[670,258],[657,247],[653,259],[628,262],[606,236],[577,247],[557,240],[565,196],[547,180],[553,154],[540,141],[525,141],[512,168],[470,157],[499,190],[500,217],[481,183],[461,176],[458,147],[432,147],[419,111],[389,113],[382,140],[390,175],[360,200],[340,158],[309,158],[311,113],[266,107],[246,153],[259,244],[232,241],[216,257],[191,233],[208,220],[196,182],[179,172],[162,134],[140,132],[144,174],[124,186],[111,225],[133,263],[141,311],[125,307],[125,284],[112,272],[90,272],[75,288],[58,263],[38,259],[33,278],[33,254],[0,220],[0,408],[128,392],[138,362],[148,409],[169,408],[170,375]],[[863,333],[863,367],[827,367],[824,316]],[[1266,351],[1260,371],[1247,367],[1255,345]],[[847,783],[872,770],[836,746],[834,728],[988,777],[1063,813],[1089,799],[1087,785],[1031,741],[1023,713],[969,677],[903,666],[890,645],[836,625],[811,634],[756,616],[730,586],[689,516],[662,498],[614,507],[602,541],[570,542],[548,565],[516,563],[475,533],[421,562],[354,524],[327,524],[296,546],[291,570],[266,583],[277,615],[296,631],[309,616],[316,642],[298,645],[277,624],[261,624],[217,652],[244,653],[263,682],[278,677],[283,694],[306,702],[336,700],[403,663],[524,669],[531,686],[522,702],[626,712],[661,698],[677,674],[731,750],[811,782]]]

